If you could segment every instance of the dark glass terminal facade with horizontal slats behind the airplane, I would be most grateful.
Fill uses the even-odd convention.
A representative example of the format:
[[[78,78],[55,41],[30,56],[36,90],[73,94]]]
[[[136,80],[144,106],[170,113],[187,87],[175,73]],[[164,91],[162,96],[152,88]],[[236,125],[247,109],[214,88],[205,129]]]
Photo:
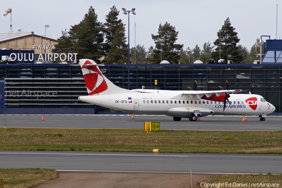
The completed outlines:
[[[128,88],[128,65],[99,67],[115,85]],[[188,90],[196,80],[198,90],[242,89],[263,96],[275,113],[282,113],[282,65],[130,65],[130,89],[155,88]],[[112,110],[78,101],[88,95],[80,65],[17,64],[0,65],[0,81],[5,82],[6,108],[96,108]]]

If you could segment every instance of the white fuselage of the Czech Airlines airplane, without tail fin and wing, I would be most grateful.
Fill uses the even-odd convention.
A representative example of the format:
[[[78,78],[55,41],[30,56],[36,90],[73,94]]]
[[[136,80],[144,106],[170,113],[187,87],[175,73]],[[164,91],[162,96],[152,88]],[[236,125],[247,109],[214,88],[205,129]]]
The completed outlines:
[[[223,112],[224,102],[209,101],[168,93],[123,93],[111,95],[81,96],[79,100],[122,112],[135,114],[163,114],[188,118],[197,112],[199,117],[207,115],[265,115],[275,107],[260,95],[231,94]],[[177,93],[176,93],[177,94]],[[175,96],[175,97],[171,97]]]

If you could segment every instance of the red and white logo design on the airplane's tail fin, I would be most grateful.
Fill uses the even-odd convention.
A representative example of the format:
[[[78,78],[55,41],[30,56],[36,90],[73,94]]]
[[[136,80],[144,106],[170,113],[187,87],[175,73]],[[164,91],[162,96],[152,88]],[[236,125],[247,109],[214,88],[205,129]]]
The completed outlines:
[[[107,90],[108,88],[107,83],[101,71],[99,70],[99,68],[97,68],[97,64],[96,66],[95,64],[86,60],[83,66],[81,67],[82,72],[83,72],[84,81],[85,81],[85,84],[88,90],[88,95],[94,95],[97,93],[101,93]]]

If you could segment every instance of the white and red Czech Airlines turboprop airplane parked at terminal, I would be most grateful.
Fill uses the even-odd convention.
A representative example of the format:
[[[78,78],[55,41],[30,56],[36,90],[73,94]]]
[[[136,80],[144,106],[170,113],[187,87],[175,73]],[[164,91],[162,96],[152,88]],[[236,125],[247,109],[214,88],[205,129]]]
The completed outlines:
[[[98,66],[104,65],[89,59],[80,59],[79,63],[88,96],[78,100],[122,112],[167,115],[174,121],[196,121],[208,115],[258,115],[264,121],[267,114],[275,111],[260,95],[234,94],[242,90],[228,90],[228,82],[226,90],[216,91],[127,90],[102,75]]]

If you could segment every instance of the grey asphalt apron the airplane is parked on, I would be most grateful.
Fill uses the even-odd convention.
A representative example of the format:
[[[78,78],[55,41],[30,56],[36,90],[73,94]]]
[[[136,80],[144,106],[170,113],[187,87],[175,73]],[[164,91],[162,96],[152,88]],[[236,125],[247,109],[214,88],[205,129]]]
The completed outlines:
[[[144,122],[160,122],[160,129],[168,130],[234,130],[234,131],[280,131],[282,116],[267,116],[259,121],[257,116],[206,116],[191,122],[188,118],[173,121],[165,115],[0,115],[0,127],[18,128],[110,128],[143,129]]]

